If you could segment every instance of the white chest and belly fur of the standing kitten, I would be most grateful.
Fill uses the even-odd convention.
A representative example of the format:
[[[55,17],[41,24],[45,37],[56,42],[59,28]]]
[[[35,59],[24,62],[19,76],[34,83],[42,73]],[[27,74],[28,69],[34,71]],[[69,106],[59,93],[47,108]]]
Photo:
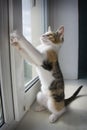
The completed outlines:
[[[45,60],[47,60],[47,59],[49,59],[47,52],[50,51],[50,50],[53,50],[53,48],[52,48],[52,46],[40,45],[38,47],[38,50],[41,53],[45,54]],[[48,71],[47,68],[37,67],[37,73],[38,73],[40,81],[41,81],[41,85],[42,85],[41,89],[42,89],[42,91],[43,92],[49,91],[50,84],[54,80],[54,77],[52,75],[52,71],[51,70]]]

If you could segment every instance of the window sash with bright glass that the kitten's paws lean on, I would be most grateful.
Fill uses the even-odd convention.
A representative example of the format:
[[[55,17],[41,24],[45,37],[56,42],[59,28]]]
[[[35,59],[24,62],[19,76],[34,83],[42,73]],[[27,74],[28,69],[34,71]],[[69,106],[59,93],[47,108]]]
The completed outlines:
[[[37,47],[40,44],[39,37],[44,32],[44,0],[13,0],[13,6],[9,12],[11,31],[17,29],[22,32],[27,40]],[[15,120],[19,121],[35,100],[40,82],[35,78],[37,76],[35,67],[26,63],[12,46],[11,72],[14,115]]]

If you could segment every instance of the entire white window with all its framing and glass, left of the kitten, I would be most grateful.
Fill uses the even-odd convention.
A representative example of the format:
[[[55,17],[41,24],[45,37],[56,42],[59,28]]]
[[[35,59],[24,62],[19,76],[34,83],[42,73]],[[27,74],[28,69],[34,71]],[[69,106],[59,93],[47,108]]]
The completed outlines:
[[[3,127],[9,127],[24,116],[40,87],[39,81],[36,84],[32,81],[33,87],[25,92],[24,84],[37,74],[10,46],[9,35],[15,29],[23,30],[24,36],[36,47],[44,32],[43,3],[44,0],[0,0],[0,125],[4,124]]]

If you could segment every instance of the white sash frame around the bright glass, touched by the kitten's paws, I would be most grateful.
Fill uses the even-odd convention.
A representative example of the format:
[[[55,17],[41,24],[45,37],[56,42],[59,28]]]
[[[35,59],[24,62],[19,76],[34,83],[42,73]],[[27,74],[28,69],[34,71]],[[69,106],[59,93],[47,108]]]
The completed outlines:
[[[18,29],[22,32],[22,0],[9,0],[9,28],[10,32]],[[32,1],[33,2],[33,1]],[[38,0],[39,6],[42,7],[44,0]],[[18,10],[17,10],[18,9]],[[44,16],[44,12],[41,15]],[[16,15],[15,15],[16,14]],[[13,24],[12,24],[13,22]],[[44,26],[44,25],[42,25]],[[11,50],[11,72],[12,72],[12,86],[13,86],[13,99],[14,99],[14,113],[15,120],[19,121],[24,114],[29,110],[31,104],[34,102],[36,93],[40,87],[40,81],[38,80],[29,91],[25,92],[24,87],[24,59],[20,56],[19,52],[10,46]]]

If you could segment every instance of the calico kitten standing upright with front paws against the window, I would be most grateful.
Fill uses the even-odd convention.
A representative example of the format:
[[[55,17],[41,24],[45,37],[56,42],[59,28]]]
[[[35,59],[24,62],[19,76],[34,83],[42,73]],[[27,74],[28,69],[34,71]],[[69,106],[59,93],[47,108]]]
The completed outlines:
[[[65,99],[64,79],[58,61],[58,52],[64,41],[64,26],[56,32],[52,32],[49,27],[48,32],[40,37],[41,45],[38,49],[34,48],[22,34],[15,31],[11,33],[10,41],[24,59],[36,66],[41,81],[41,91],[37,94],[39,103],[37,111],[47,108],[52,113],[49,121],[55,122],[82,88],[80,86],[70,98]]]

